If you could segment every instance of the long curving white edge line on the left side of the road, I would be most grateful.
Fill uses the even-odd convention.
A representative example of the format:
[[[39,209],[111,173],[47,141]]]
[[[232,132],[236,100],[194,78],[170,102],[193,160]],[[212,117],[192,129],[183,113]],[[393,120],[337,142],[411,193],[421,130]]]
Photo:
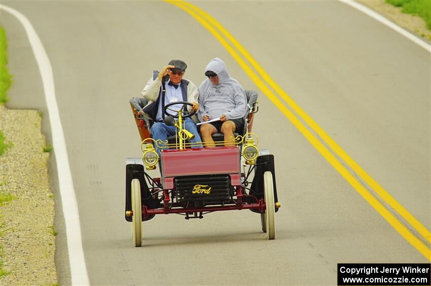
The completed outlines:
[[[89,285],[87,268],[82,248],[81,225],[79,220],[78,204],[75,196],[74,184],[70,173],[66,142],[55,98],[54,77],[48,55],[42,42],[28,19],[20,12],[0,4],[3,9],[15,16],[24,26],[33,49],[34,56],[39,65],[46,104],[48,106],[49,121],[52,130],[52,144],[57,163],[58,181],[61,194],[64,221],[66,224],[67,250],[69,254],[70,276],[73,285]]]

